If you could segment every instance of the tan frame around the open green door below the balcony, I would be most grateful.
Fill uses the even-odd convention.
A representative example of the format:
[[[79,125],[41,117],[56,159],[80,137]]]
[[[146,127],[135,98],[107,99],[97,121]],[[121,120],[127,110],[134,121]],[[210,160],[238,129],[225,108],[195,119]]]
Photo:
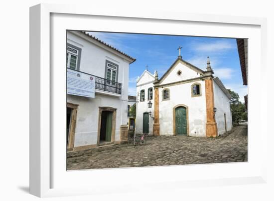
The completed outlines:
[[[108,142],[108,143],[113,143],[113,142],[115,141],[116,110],[117,110],[117,108],[113,108],[113,107],[99,107],[98,132],[97,132],[97,145],[100,144],[101,120],[102,120],[102,112],[103,112],[103,111],[112,112],[111,142]]]

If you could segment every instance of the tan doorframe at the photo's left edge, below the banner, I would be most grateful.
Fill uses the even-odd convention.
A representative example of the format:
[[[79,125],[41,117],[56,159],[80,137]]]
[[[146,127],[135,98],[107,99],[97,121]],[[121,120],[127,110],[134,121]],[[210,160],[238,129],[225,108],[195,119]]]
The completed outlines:
[[[76,119],[77,119],[77,104],[67,103],[67,108],[71,110],[70,116],[70,127],[69,127],[69,134],[68,134],[68,144],[66,145],[67,149],[74,148],[74,139],[75,139],[75,128],[76,128]]]

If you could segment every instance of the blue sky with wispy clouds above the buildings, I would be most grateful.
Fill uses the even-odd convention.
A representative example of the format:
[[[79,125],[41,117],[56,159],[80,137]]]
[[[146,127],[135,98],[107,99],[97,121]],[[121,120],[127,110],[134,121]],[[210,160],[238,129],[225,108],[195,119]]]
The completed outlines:
[[[158,71],[159,77],[177,59],[177,48],[182,46],[182,58],[206,70],[207,56],[211,67],[226,88],[239,94],[244,102],[248,93],[243,85],[236,39],[194,36],[150,35],[131,33],[89,32],[100,40],[135,57],[130,65],[129,95],[136,95],[136,79],[146,69],[151,73]]]

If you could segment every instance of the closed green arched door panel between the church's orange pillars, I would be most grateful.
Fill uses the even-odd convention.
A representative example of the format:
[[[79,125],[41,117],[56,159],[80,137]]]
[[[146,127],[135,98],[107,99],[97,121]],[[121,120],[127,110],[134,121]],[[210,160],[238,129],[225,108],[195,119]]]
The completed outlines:
[[[175,109],[175,133],[176,135],[186,135],[187,125],[186,125],[186,108],[177,107]]]

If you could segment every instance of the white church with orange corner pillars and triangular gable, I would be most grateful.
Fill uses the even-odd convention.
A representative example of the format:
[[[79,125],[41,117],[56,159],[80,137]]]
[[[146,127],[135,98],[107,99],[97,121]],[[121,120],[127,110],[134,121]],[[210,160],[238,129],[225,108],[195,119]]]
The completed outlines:
[[[231,96],[213,73],[209,58],[204,71],[181,56],[160,79],[145,70],[137,79],[136,133],[216,137],[231,130]]]

